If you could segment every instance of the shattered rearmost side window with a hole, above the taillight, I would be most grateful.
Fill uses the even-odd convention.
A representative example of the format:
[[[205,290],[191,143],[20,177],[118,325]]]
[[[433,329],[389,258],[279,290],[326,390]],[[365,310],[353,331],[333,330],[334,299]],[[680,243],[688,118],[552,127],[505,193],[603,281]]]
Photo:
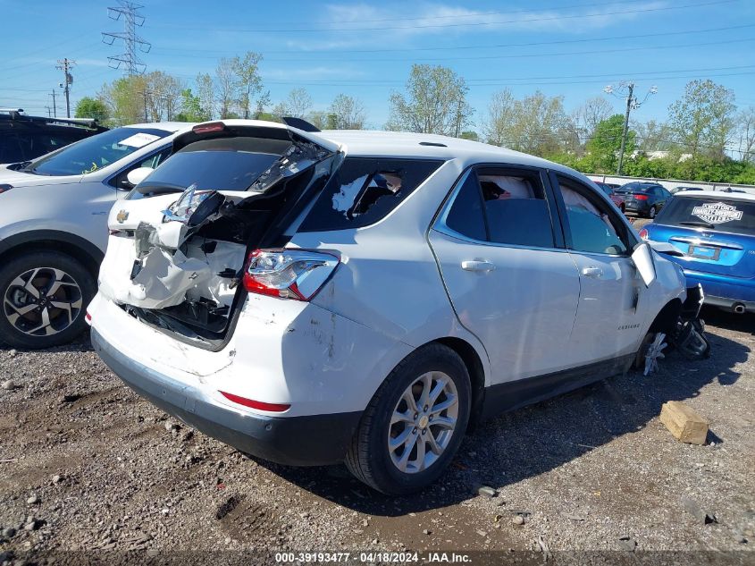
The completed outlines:
[[[347,157],[325,185],[298,232],[374,224],[398,207],[442,161]]]

